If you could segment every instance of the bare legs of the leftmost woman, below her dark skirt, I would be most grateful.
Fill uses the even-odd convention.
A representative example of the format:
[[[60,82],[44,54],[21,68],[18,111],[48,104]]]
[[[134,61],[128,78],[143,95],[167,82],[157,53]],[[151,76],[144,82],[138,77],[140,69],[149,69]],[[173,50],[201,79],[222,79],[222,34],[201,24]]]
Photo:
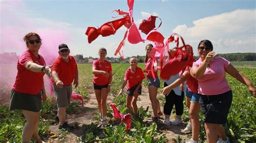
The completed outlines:
[[[22,132],[22,142],[30,142],[32,135],[35,137],[39,137],[38,131],[37,133],[35,133],[37,129],[36,126],[38,126],[39,121],[39,112],[22,110],[22,113],[26,118],[26,124]]]

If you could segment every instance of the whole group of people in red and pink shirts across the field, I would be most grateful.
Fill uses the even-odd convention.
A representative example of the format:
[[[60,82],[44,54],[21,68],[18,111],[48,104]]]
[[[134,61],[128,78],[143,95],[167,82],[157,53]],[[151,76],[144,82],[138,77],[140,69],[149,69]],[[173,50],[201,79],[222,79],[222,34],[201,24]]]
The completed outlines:
[[[72,83],[75,88],[79,84],[78,68],[75,59],[70,55],[70,48],[66,44],[59,45],[58,58],[51,66],[46,66],[43,56],[39,54],[42,45],[41,37],[37,33],[31,32],[26,34],[23,40],[27,49],[19,56],[17,62],[18,72],[11,90],[9,109],[22,110],[26,118],[22,142],[30,142],[31,138],[37,142],[43,142],[38,135],[39,111],[42,109],[42,101],[46,100],[43,76],[46,74],[51,77],[57,98],[58,113],[55,119],[59,122],[59,129],[72,128],[65,121],[65,112],[71,99]],[[247,85],[250,94],[255,97],[256,89],[250,80],[235,69],[229,61],[214,53],[211,41],[202,40],[197,48],[199,60],[194,61],[192,67],[187,66],[179,74],[172,75],[169,80],[164,81],[162,93],[165,95],[165,105],[164,113],[162,113],[157,99],[160,80],[158,68],[154,67],[154,60],[150,55],[152,48],[152,44],[146,45],[145,70],[138,67],[136,58],[130,59],[130,67],[125,71],[124,82],[118,94],[118,96],[122,95],[126,86],[127,108],[137,114],[137,99],[142,94],[142,81],[146,78],[149,83],[149,97],[153,110],[150,122],[160,121],[160,116],[164,115],[166,126],[182,123],[183,100],[186,96],[190,121],[184,131],[192,130],[192,138],[187,142],[198,142],[200,109],[205,115],[207,142],[229,142],[222,125],[227,121],[232,103],[232,90],[227,83],[226,73]],[[171,49],[170,53],[175,50],[176,48]],[[111,63],[106,60],[106,54],[105,48],[99,48],[99,58],[92,64],[93,89],[103,126],[108,124],[106,100],[113,80]],[[175,105],[176,119],[171,123],[170,115],[173,105]]]

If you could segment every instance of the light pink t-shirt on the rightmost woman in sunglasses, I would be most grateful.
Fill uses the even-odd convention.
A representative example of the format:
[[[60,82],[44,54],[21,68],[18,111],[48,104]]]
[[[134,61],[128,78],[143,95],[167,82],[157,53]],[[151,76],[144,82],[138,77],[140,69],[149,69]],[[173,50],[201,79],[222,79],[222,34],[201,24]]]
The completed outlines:
[[[193,63],[193,67],[202,64],[201,58]],[[230,62],[222,57],[214,58],[210,63],[211,68],[206,68],[202,77],[198,78],[198,93],[203,95],[219,95],[230,91],[230,85],[226,80],[225,69]]]

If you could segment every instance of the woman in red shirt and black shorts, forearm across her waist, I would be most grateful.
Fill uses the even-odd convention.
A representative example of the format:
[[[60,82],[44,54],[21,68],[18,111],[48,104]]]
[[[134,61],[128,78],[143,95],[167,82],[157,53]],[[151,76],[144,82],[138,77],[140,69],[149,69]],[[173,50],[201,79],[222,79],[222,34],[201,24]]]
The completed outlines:
[[[93,61],[92,73],[93,77],[93,88],[95,91],[96,99],[98,102],[98,108],[101,116],[101,124],[106,125],[106,99],[110,92],[112,83],[112,67],[111,63],[106,60],[106,49],[99,48],[99,59]]]

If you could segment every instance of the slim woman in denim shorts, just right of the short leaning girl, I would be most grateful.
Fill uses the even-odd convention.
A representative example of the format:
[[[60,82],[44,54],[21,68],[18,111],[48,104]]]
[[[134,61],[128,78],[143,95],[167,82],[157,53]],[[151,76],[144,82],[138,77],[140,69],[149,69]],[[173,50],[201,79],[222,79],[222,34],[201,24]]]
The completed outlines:
[[[150,122],[158,121],[160,118],[159,116],[163,115],[160,109],[160,103],[157,99],[157,89],[160,87],[160,80],[157,75],[157,68],[153,66],[154,64],[153,58],[151,58],[150,56],[150,52],[152,48],[153,48],[152,44],[147,44],[146,56],[144,59],[146,77],[147,77],[147,81],[149,81],[149,96],[150,96],[150,101],[151,101],[152,109],[154,113],[154,117],[151,120],[149,120]],[[154,74],[154,77],[156,77],[156,80],[154,80],[151,72],[152,67],[154,68],[153,74]]]

